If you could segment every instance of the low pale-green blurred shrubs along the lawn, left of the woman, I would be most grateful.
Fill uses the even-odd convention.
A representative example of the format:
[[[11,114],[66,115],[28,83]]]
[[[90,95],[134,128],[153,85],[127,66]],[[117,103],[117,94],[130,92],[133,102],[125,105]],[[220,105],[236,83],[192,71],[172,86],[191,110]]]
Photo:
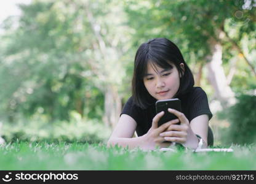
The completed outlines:
[[[70,120],[55,120],[50,122],[47,116],[34,115],[30,120],[18,117],[15,124],[4,123],[1,136],[6,142],[21,141],[48,141],[48,142],[106,142],[110,137],[111,129],[101,121],[92,118],[82,118],[75,110],[70,112]]]

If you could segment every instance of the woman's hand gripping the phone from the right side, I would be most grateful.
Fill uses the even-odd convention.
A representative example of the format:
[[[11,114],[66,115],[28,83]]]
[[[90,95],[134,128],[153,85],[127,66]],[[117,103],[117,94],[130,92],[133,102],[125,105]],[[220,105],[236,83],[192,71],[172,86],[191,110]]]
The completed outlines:
[[[180,125],[174,125],[171,123],[165,132],[162,132],[159,136],[164,140],[177,142],[185,147],[196,148],[198,147],[198,137],[192,131],[190,122],[186,116],[175,109],[168,109],[170,113],[174,113],[178,117],[177,121],[180,121]]]

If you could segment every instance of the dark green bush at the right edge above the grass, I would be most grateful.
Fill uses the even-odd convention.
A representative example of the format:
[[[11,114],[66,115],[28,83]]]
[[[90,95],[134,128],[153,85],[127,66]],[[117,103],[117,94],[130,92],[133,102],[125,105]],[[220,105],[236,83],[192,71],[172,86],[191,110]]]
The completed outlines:
[[[252,144],[256,142],[256,96],[241,94],[238,102],[222,113],[222,118],[230,120],[227,140],[233,144]]]

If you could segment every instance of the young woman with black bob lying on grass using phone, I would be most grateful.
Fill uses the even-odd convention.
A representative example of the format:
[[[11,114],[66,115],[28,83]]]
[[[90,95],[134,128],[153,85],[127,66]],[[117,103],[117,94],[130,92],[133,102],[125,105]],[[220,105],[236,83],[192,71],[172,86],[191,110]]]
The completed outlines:
[[[168,109],[178,118],[158,127],[164,112],[156,114],[155,102],[172,98],[182,101],[182,112]],[[194,87],[193,75],[178,47],[168,39],[152,39],[137,50],[132,96],[124,105],[108,146],[153,150],[176,142],[188,148],[204,148],[213,144],[211,130],[208,135],[210,118],[206,93]],[[138,137],[133,137],[135,131]]]

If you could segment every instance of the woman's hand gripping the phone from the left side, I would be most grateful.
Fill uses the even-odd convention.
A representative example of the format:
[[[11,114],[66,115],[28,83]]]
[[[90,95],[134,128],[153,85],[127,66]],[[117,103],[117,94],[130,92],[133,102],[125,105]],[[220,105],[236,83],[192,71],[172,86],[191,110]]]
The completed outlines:
[[[143,144],[142,149],[143,150],[153,150],[156,147],[169,147],[171,142],[166,142],[166,139],[164,137],[159,136],[161,132],[164,132],[170,125],[173,125],[175,123],[178,123],[179,120],[172,120],[168,121],[167,123],[164,123],[163,125],[158,127],[158,121],[160,118],[164,115],[164,112],[159,112],[152,121],[152,126],[148,130],[148,132],[143,135]]]

